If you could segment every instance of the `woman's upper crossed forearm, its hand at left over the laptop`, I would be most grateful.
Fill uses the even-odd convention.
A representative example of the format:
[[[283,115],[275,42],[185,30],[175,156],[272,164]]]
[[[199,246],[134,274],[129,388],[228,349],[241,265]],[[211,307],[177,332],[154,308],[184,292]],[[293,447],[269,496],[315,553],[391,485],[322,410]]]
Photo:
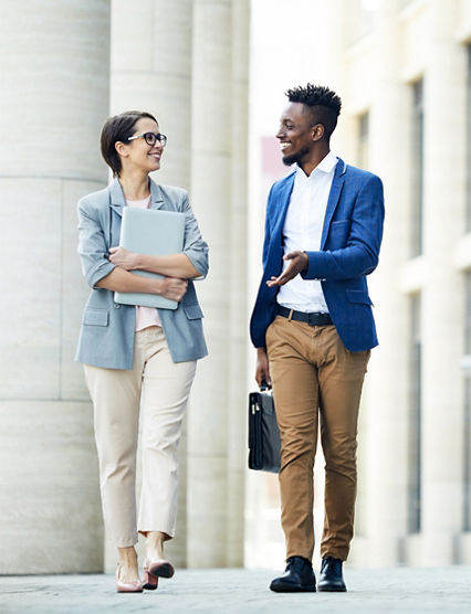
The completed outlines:
[[[111,247],[109,262],[126,271],[150,271],[169,277],[191,279],[201,274],[185,254],[170,254],[167,256],[148,256],[128,252],[124,247]]]

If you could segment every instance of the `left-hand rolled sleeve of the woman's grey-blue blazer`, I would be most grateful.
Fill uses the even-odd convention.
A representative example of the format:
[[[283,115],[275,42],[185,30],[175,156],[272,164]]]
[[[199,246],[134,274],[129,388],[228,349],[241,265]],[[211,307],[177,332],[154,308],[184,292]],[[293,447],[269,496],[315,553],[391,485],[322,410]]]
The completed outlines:
[[[115,265],[107,258],[106,246],[102,223],[97,208],[93,208],[85,199],[81,199],[78,210],[78,256],[82,264],[84,277],[92,288],[103,277],[106,277]]]

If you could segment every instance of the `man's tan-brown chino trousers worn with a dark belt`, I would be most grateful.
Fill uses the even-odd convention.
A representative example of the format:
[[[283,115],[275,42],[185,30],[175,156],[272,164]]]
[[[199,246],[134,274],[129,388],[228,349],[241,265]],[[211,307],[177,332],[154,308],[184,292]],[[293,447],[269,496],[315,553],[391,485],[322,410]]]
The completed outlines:
[[[268,329],[266,349],[282,443],[279,479],[286,558],[313,555],[313,469],[321,422],[321,554],[344,561],[353,537],[358,406],[370,352],[345,349],[335,326],[310,326],[281,316]]]

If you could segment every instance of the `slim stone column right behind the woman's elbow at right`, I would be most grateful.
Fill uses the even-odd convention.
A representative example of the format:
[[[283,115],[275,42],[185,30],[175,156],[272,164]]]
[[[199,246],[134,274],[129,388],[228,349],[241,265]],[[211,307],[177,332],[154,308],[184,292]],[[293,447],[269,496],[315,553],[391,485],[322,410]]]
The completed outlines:
[[[191,194],[210,245],[201,285],[210,356],[188,416],[188,564],[227,564],[230,382],[232,2],[195,0]]]

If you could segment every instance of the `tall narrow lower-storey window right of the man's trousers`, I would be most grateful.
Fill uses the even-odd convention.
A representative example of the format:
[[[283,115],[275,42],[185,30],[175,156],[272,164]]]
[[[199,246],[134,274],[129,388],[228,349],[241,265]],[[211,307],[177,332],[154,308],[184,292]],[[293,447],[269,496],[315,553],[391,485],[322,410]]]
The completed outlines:
[[[420,295],[410,298],[409,353],[409,497],[408,531],[421,528],[421,336]]]

